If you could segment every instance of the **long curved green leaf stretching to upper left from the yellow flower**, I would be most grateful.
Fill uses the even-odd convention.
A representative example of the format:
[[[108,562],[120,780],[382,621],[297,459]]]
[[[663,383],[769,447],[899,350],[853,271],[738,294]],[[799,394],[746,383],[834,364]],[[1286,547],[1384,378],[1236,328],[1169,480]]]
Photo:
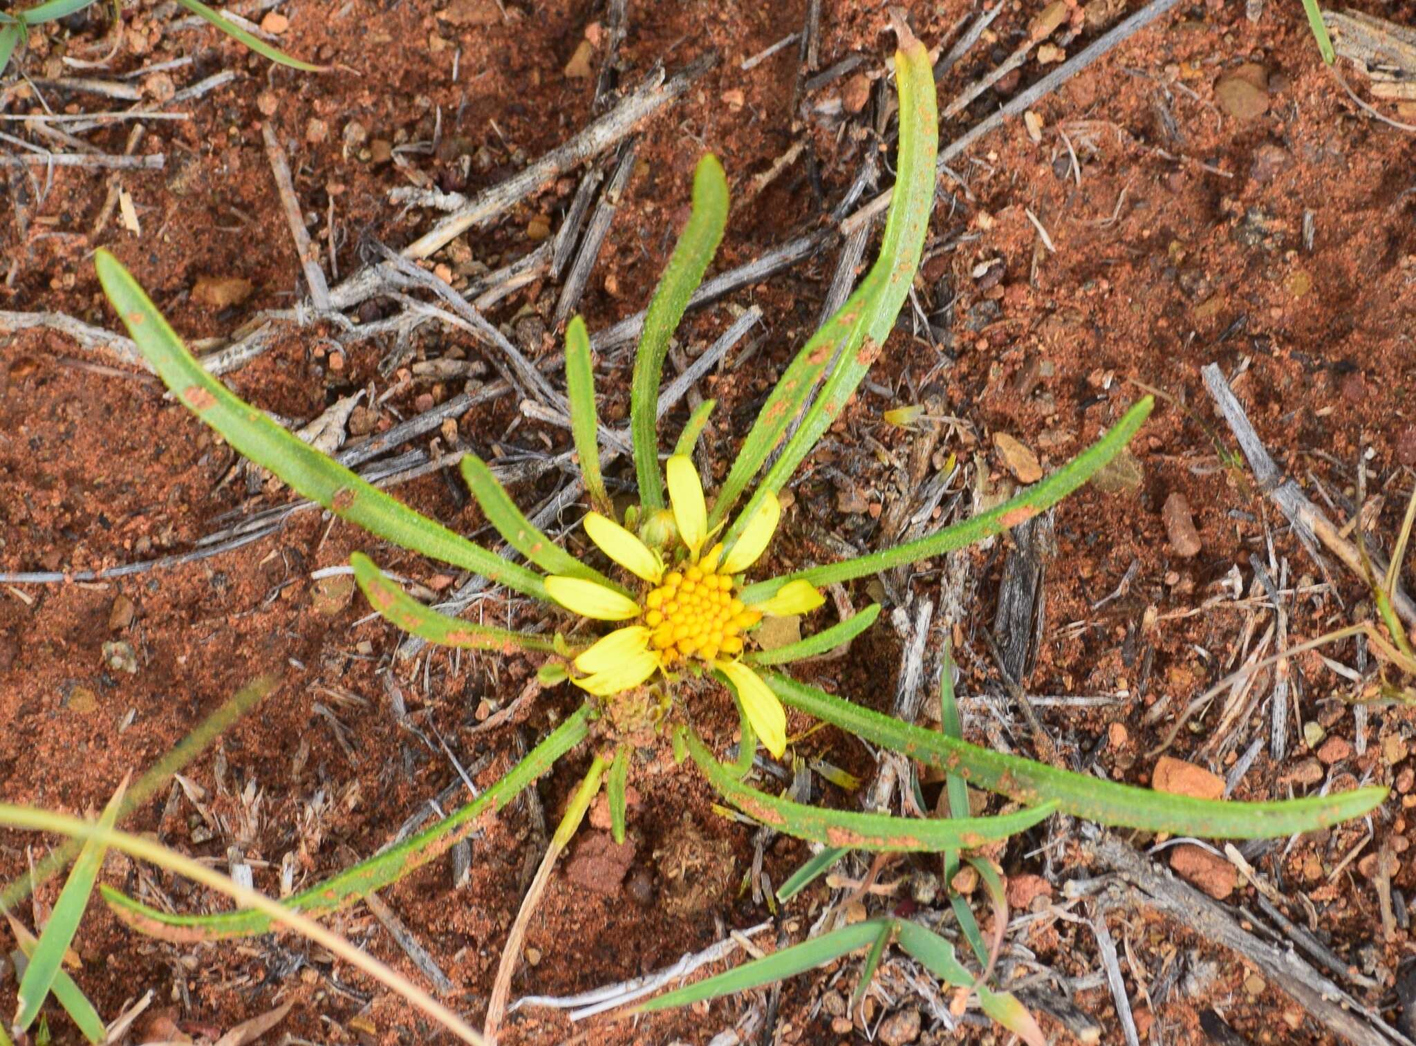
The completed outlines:
[[[269,469],[292,490],[375,536],[549,602],[545,585],[534,570],[493,555],[419,515],[238,399],[193,358],[157,306],[113,255],[99,248],[93,265],[103,293],[157,375],[183,405],[238,452]]]

